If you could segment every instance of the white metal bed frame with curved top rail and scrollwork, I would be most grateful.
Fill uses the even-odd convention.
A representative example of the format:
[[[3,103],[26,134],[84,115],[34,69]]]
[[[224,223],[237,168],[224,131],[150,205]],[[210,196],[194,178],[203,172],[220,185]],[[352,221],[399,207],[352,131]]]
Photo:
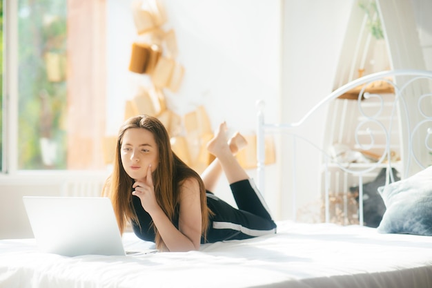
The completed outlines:
[[[426,80],[424,80],[426,79]],[[428,70],[389,70],[383,71],[380,73],[373,73],[371,75],[366,75],[359,79],[355,79],[354,81],[337,88],[333,93],[324,97],[320,102],[318,102],[313,108],[311,108],[306,115],[302,117],[297,122],[288,123],[288,124],[271,124],[266,123],[264,120],[264,101],[260,100],[257,102],[257,186],[263,194],[264,191],[264,160],[265,160],[265,148],[264,148],[264,140],[266,133],[270,133],[271,131],[276,133],[293,133],[292,131],[295,128],[299,128],[302,124],[311,117],[317,111],[318,108],[330,103],[340,95],[352,90],[353,88],[357,88],[359,86],[363,86],[360,90],[358,101],[358,108],[360,112],[362,112],[361,103],[362,97],[377,97],[381,101],[382,105],[382,97],[379,94],[371,94],[365,91],[365,87],[369,86],[369,84],[374,81],[385,81],[390,84],[394,88],[394,101],[392,108],[392,116],[395,116],[396,113],[400,115],[400,129],[402,129],[402,135],[406,135],[406,143],[404,143],[404,148],[401,149],[401,158],[404,166],[404,173],[402,177],[408,177],[412,175],[415,171],[419,169],[422,170],[426,168],[427,164],[424,163],[424,159],[421,155],[424,153],[431,153],[432,151],[432,71]],[[415,97],[415,102],[412,99]],[[425,112],[426,111],[426,112]],[[428,112],[429,111],[429,115]],[[331,155],[329,155],[328,151],[326,151],[326,147],[320,148],[315,144],[309,142],[307,139],[302,137],[303,141],[309,142],[317,149],[319,149],[323,155],[323,164],[324,164],[324,175],[328,175],[328,164],[332,163],[337,165],[342,171],[346,173],[350,173],[358,177],[359,183],[359,223],[361,225],[364,224],[364,215],[363,215],[363,176],[365,173],[376,169],[377,166],[386,166],[387,173],[393,182],[393,174],[390,173],[392,160],[391,160],[391,129],[393,127],[386,128],[378,119],[381,110],[375,115],[364,115],[366,120],[364,122],[358,124],[359,126],[364,125],[366,122],[374,122],[382,127],[386,143],[385,143],[385,151],[382,153],[380,160],[378,160],[375,164],[371,164],[369,166],[365,166],[363,169],[350,169],[346,163],[340,163],[332,159]],[[424,128],[424,125],[427,127]],[[373,131],[367,130],[369,133],[370,141],[373,143],[374,135]],[[364,148],[364,150],[368,150],[369,144],[362,144],[357,139],[357,130],[355,132],[355,141],[357,144]],[[298,138],[297,135],[294,135]],[[424,142],[424,146],[422,148],[419,146],[419,142]],[[295,145],[293,146],[295,149]],[[419,153],[420,152],[420,153]],[[419,156],[419,154],[421,154]],[[293,153],[295,155],[295,153]],[[293,158],[293,162],[295,162],[295,157]],[[413,165],[415,164],[415,165]],[[417,166],[413,168],[413,166]],[[389,178],[387,177],[387,178]],[[293,180],[295,181],[295,169],[293,171]],[[324,182],[324,204],[325,204],[325,221],[329,221],[329,184],[328,177],[324,177],[322,180]],[[295,198],[295,194],[297,193],[296,184],[293,183],[293,197]],[[293,209],[296,211],[295,200],[293,201]]]

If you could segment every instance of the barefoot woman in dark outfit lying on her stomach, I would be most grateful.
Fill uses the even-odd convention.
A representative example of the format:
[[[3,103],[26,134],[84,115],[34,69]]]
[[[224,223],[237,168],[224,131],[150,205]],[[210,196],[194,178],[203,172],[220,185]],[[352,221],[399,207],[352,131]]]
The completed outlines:
[[[227,142],[225,133],[222,123],[207,146],[216,158],[200,177],[173,153],[157,118],[128,119],[120,128],[104,189],[121,233],[130,221],[139,238],[155,242],[161,251],[198,250],[206,242],[275,233],[264,200],[234,156],[246,141],[237,133]],[[210,192],[222,171],[239,209]]]

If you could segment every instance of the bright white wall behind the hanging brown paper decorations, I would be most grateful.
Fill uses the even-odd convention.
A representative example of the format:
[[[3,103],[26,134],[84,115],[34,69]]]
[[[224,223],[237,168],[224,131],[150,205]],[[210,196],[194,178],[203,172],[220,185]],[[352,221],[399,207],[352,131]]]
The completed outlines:
[[[108,133],[117,134],[125,99],[146,75],[128,72],[130,46],[137,37],[131,1],[108,0]],[[177,35],[177,61],[186,72],[180,90],[168,96],[179,115],[204,105],[215,128],[219,122],[255,131],[255,101],[279,97],[280,3],[261,0],[165,0],[168,22]],[[245,101],[246,100],[246,101]],[[269,108],[277,104],[269,101]],[[241,115],[242,117],[239,117]]]

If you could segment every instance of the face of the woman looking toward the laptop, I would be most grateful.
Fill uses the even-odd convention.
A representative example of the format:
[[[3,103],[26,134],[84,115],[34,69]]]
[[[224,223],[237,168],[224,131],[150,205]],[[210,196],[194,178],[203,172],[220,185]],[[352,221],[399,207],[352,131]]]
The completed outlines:
[[[126,173],[134,180],[144,180],[149,164],[152,172],[157,168],[159,147],[147,129],[129,128],[124,132],[120,155]]]

